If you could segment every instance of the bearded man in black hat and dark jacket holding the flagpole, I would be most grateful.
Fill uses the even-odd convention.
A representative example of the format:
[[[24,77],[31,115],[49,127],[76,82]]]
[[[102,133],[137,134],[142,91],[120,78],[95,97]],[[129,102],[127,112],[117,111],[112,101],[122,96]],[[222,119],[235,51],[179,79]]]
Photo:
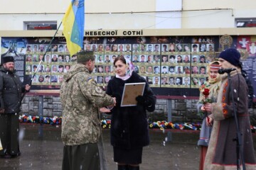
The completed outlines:
[[[29,91],[31,86],[22,86],[21,80],[15,74],[14,57],[3,57],[3,67],[0,69],[0,138],[3,149],[0,156],[16,157],[21,154],[18,145],[18,113],[21,106],[21,93]]]

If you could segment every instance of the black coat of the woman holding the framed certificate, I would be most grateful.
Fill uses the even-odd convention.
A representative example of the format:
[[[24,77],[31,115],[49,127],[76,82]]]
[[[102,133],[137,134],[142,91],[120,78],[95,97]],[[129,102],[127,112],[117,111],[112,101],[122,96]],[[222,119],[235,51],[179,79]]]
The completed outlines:
[[[146,82],[143,77],[133,72],[127,80],[114,77],[107,86],[107,94],[117,98],[117,104],[112,109],[111,117],[111,144],[114,147],[132,149],[149,145],[149,125],[147,111],[154,111],[156,96],[146,83],[144,103],[137,106],[120,107],[124,84]]]

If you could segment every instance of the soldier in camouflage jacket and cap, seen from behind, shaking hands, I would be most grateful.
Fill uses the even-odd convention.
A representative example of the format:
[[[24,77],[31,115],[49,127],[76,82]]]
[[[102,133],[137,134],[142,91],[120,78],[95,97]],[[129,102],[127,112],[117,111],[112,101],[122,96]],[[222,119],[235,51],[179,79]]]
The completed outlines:
[[[63,106],[62,169],[100,169],[97,142],[101,135],[99,111],[115,104],[115,98],[105,94],[92,79],[95,67],[93,52],[78,52],[78,64],[65,74],[60,87]]]

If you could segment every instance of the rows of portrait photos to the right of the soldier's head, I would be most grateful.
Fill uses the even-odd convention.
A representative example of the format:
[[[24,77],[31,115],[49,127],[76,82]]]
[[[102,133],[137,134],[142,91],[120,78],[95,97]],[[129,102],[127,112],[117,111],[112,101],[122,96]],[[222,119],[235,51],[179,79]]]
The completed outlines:
[[[95,80],[101,86],[114,76],[114,59],[123,55],[151,87],[198,88],[206,81],[206,66],[213,61],[213,47],[196,43],[87,44],[85,50],[95,51]]]

